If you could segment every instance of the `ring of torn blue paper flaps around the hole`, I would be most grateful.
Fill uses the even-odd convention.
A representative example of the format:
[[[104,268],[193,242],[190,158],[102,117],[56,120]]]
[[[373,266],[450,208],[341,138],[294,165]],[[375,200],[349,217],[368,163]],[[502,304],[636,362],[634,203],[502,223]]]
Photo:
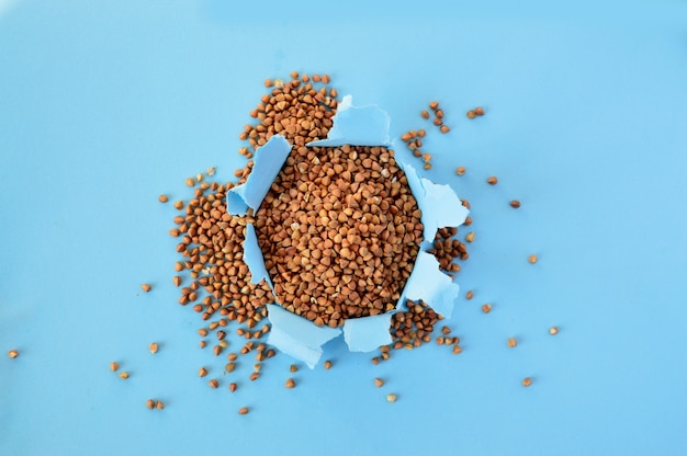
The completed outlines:
[[[339,104],[333,122],[334,125],[327,139],[313,141],[307,146],[338,147],[347,144],[391,146],[388,138],[391,119],[388,114],[378,106],[353,106],[352,99],[347,95]],[[248,208],[257,212],[290,151],[291,146],[279,135],[273,136],[264,146],[256,150],[255,166],[248,180],[227,193],[227,207],[230,214],[245,214]],[[423,213],[425,241],[431,242],[438,228],[458,227],[465,221],[469,210],[449,185],[439,185],[421,178],[412,164],[398,157],[396,157],[396,162],[406,173],[410,191]],[[266,278],[271,286],[255,228],[250,224],[246,226],[244,249],[244,260],[250,270],[252,282],[257,283]],[[421,299],[437,312],[450,317],[459,289],[458,284],[439,270],[437,259],[420,249],[394,311],[348,319],[341,331],[338,328],[317,327],[306,318],[292,314],[279,305],[268,305],[268,319],[272,326],[268,343],[305,362],[311,368],[322,357],[322,346],[339,337],[341,332],[351,352],[371,352],[392,342],[388,331],[391,318],[394,312],[404,309],[406,299]]]

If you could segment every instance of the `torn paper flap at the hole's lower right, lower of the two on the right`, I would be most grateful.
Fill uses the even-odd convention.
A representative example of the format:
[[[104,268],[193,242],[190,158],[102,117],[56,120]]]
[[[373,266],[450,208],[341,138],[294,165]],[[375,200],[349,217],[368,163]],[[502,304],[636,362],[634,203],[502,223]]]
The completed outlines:
[[[424,300],[437,312],[450,318],[453,312],[453,304],[460,287],[451,277],[439,270],[439,262],[435,255],[427,252],[418,252],[410,277],[406,282],[399,303],[406,299]]]

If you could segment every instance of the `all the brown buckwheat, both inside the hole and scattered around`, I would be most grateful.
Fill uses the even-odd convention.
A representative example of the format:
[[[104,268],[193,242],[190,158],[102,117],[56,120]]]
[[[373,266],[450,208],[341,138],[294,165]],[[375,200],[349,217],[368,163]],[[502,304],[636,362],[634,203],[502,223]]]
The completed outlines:
[[[206,322],[198,329],[201,349],[212,345],[215,356],[226,355],[223,369],[201,366],[198,376],[209,377],[207,385],[215,389],[222,387],[221,379],[227,378],[232,394],[240,385],[236,378],[240,375],[239,357],[254,356],[247,378],[255,381],[261,375],[262,363],[277,355],[274,349],[260,341],[271,329],[261,321],[267,316],[267,304],[278,303],[316,326],[331,328],[341,327],[349,318],[394,310],[423,241],[421,213],[394,151],[367,146],[306,147],[327,137],[338,93],[329,87],[327,75],[292,72],[290,77],[285,81],[264,81],[268,93],[250,112],[255,122],[245,125],[239,135],[246,146],[238,152],[247,162],[234,172],[237,182],[211,182],[215,174],[211,168],[187,179],[193,197],[172,203],[180,210],[174,217],[176,227],[169,231],[179,239],[177,252],[181,258],[172,277],[180,288],[179,304],[190,306]],[[433,125],[440,133],[449,133],[439,103],[430,102],[429,109]],[[483,114],[483,109],[477,107],[468,116]],[[429,111],[423,111],[420,116],[429,119]],[[246,182],[256,150],[274,135],[282,135],[292,145],[291,155],[260,208],[245,216],[230,215],[227,192]],[[426,135],[426,129],[419,128],[403,134],[401,139],[413,156],[423,159],[424,168],[430,169],[431,155],[420,150],[420,138]],[[464,167],[459,167],[457,174],[464,173]],[[487,182],[496,184],[496,178]],[[169,197],[160,195],[159,201],[168,203]],[[468,201],[463,205],[470,207]],[[510,206],[518,208],[520,203],[514,200]],[[250,281],[243,252],[247,224],[256,228],[277,296],[266,281]],[[468,217],[463,225],[471,224],[472,218]],[[437,258],[440,270],[451,277],[461,270],[455,260],[469,258],[466,243],[457,236],[457,227],[441,228],[428,250]],[[474,233],[469,232],[465,241],[473,240]],[[536,255],[529,261],[534,263]],[[142,289],[149,293],[151,286],[143,284]],[[469,290],[465,298],[472,297],[473,292]],[[394,312],[390,328],[393,342],[380,347],[379,354],[372,356],[373,364],[388,360],[393,350],[413,350],[432,340],[443,317],[430,304],[407,300],[402,310]],[[491,305],[482,308],[488,312]],[[235,335],[229,328],[234,328]],[[550,333],[558,333],[558,328],[552,327]],[[245,342],[230,351],[236,341],[229,345],[229,340],[237,338]],[[453,354],[462,352],[460,338],[452,337],[447,326],[435,341],[452,347]],[[508,346],[517,346],[517,341],[508,339]],[[150,353],[157,351],[158,344],[151,343]],[[323,366],[329,369],[333,363],[326,360]],[[119,364],[113,362],[111,369],[116,372]],[[297,371],[299,366],[292,364],[285,388],[296,387],[293,375]],[[119,376],[126,379],[128,373]],[[529,377],[522,380],[525,386],[530,383]],[[374,378],[374,385],[383,387],[384,379]],[[385,397],[388,402],[397,400],[393,392]],[[146,406],[159,410],[165,407],[162,401],[153,399]],[[248,412],[247,407],[238,409],[239,414]]]

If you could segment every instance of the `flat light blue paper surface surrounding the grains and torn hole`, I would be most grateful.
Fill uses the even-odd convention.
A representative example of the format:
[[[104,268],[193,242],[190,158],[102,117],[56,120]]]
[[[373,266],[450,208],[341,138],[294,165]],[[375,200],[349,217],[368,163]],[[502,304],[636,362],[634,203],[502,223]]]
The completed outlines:
[[[0,1],[0,454],[687,454],[687,5],[553,3]],[[396,136],[444,106],[426,175],[476,233],[460,356],[337,341],[296,389],[282,355],[230,395],[198,349],[157,195],[230,179],[262,80],[292,70]]]

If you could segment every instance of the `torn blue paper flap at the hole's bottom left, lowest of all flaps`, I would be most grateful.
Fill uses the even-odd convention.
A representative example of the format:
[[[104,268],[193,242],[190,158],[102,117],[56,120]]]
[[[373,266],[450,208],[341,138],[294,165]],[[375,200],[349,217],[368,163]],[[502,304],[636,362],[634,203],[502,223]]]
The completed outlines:
[[[267,342],[303,361],[309,368],[315,367],[319,361],[323,354],[322,346],[341,334],[338,328],[317,327],[279,305],[270,304],[267,308],[268,319],[272,326]],[[388,327],[386,330],[388,331]]]

